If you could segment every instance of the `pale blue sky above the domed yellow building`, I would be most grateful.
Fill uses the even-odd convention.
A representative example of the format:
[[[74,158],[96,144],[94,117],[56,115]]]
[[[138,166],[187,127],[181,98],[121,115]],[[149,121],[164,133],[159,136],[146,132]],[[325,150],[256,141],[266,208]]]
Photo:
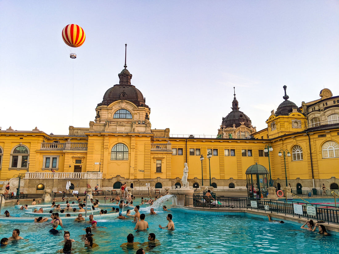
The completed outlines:
[[[1,0],[0,126],[88,127],[119,83],[127,43],[127,69],[153,129],[216,135],[235,86],[240,110],[260,130],[283,85],[298,106],[324,87],[339,95],[338,17],[334,0]],[[75,60],[61,38],[71,23],[86,33]]]

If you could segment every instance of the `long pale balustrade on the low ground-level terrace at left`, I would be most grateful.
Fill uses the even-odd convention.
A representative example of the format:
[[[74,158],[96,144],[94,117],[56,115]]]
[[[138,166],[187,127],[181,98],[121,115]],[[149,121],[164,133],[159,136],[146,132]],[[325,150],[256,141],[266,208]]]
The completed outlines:
[[[25,179],[102,179],[102,172],[27,172]]]

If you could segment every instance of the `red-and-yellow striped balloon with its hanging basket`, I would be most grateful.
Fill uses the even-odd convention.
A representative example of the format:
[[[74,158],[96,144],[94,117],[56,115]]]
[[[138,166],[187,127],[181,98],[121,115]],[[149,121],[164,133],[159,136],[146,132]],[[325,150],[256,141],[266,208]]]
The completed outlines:
[[[86,39],[86,35],[81,26],[76,24],[66,25],[62,29],[62,39],[69,47],[80,47]],[[76,58],[74,53],[70,54],[71,58]]]

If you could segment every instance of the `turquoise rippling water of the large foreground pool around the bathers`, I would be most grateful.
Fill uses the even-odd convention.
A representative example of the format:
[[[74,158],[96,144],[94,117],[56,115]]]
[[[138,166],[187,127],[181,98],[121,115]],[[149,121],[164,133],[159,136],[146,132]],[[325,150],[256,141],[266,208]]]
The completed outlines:
[[[169,203],[166,204],[169,207]],[[142,207],[141,213],[148,213]],[[158,211],[157,211],[158,210]],[[4,210],[2,210],[4,211]],[[126,242],[129,233],[134,234],[135,242],[147,241],[149,233],[155,233],[161,245],[153,249],[145,247],[146,253],[339,253],[338,236],[321,236],[301,230],[301,225],[293,223],[270,223],[267,217],[239,215],[197,214],[182,209],[173,209],[174,231],[159,229],[167,224],[167,212],[156,209],[157,215],[146,215],[149,223],[147,232],[135,232],[132,219],[96,219],[99,228],[92,232],[94,242],[99,245],[92,250],[85,249],[80,235],[88,224],[63,221],[63,230],[71,232],[74,251],[72,253],[135,253],[136,249],[123,250],[120,245]],[[274,216],[274,215],[272,215]],[[274,217],[272,217],[274,219]],[[26,240],[11,242],[1,248],[2,253],[56,253],[63,247],[63,235],[50,235],[51,223],[36,224],[29,221],[5,221],[0,224],[0,237],[9,237],[13,229],[20,229],[20,236]]]

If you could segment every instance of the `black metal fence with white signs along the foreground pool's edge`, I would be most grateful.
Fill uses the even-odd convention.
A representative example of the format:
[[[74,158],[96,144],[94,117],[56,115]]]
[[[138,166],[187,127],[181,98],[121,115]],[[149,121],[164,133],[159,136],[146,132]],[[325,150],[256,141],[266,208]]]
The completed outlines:
[[[301,205],[302,214],[295,213],[294,205]],[[185,196],[185,206],[204,207],[204,208],[223,208],[237,209],[245,208],[251,210],[261,210],[268,213],[290,214],[297,217],[305,217],[314,220],[324,220],[328,223],[339,224],[339,207],[329,205],[308,204],[305,202],[296,202],[290,200],[271,200],[258,198],[242,198],[242,197],[207,197],[202,194],[194,194],[193,196]],[[313,207],[315,215],[309,211],[307,206]],[[299,206],[300,208],[300,206]],[[309,208],[310,209],[310,208]]]

